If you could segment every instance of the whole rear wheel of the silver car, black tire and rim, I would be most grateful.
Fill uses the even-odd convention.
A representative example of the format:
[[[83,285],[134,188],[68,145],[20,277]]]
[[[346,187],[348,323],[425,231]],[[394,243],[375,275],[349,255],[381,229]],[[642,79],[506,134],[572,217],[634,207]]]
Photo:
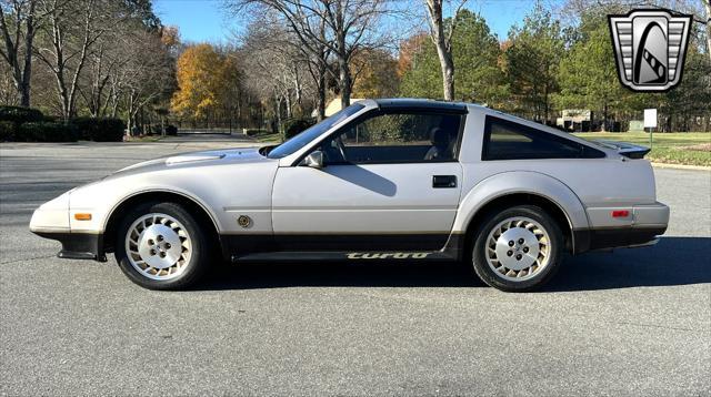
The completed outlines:
[[[563,234],[545,211],[521,205],[487,217],[472,246],[474,272],[482,282],[505,292],[528,292],[558,272]]]

